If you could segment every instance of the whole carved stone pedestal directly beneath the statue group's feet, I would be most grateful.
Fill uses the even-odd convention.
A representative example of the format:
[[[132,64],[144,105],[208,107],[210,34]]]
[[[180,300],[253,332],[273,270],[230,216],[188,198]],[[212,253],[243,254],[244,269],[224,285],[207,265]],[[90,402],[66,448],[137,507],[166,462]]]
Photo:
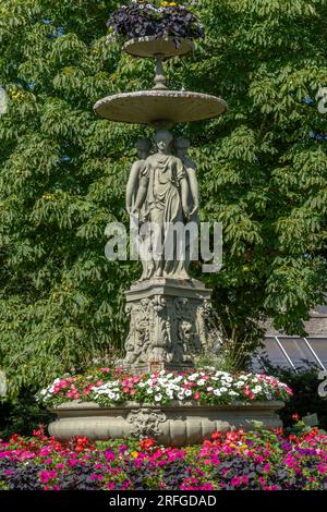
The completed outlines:
[[[210,291],[201,281],[155,278],[126,292],[130,332],[123,366],[134,373],[193,367],[207,342]]]

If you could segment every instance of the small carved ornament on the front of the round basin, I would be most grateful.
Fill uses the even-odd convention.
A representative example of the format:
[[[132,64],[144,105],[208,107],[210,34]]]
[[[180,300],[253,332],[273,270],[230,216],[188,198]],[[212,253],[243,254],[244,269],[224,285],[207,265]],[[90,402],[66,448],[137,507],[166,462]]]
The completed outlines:
[[[137,409],[128,415],[128,423],[132,425],[131,436],[138,439],[159,436],[159,424],[167,420],[160,409]]]

